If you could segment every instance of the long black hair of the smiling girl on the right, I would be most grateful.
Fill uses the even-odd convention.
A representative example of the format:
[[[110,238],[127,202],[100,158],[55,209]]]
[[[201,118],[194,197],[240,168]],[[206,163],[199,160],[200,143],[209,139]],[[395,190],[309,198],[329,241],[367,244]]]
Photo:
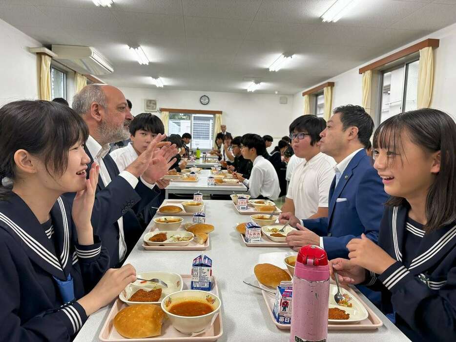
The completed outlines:
[[[456,221],[456,123],[446,113],[422,108],[395,115],[375,131],[373,148],[402,151],[401,133],[429,153],[440,151],[440,172],[426,198],[426,231]],[[409,206],[402,197],[391,197],[390,206]]]

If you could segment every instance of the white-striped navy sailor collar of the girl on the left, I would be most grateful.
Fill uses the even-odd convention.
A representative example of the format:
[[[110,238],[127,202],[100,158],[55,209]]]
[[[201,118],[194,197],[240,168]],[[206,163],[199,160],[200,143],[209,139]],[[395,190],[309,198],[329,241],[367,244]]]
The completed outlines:
[[[66,280],[72,267],[70,253],[71,212],[67,212],[59,197],[51,209],[54,239],[58,250],[41,228],[37,217],[15,193],[0,201],[0,226],[23,246],[28,257],[58,279]]]

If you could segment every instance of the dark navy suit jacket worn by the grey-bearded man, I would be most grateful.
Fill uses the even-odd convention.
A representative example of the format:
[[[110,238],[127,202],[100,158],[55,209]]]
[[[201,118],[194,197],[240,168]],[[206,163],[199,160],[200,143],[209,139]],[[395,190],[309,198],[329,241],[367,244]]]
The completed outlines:
[[[88,178],[93,158],[87,148],[85,148],[85,153],[90,157],[86,170]],[[94,233],[100,237],[109,252],[110,267],[117,267],[121,262],[119,260],[120,232],[117,220],[123,217],[127,245],[126,255],[128,255],[144,231],[137,215],[142,215],[147,204],[155,199],[159,192],[149,189],[142,181],[138,181],[138,185],[133,189],[123,177],[119,176],[120,172],[116,162],[109,154],[103,158],[103,161],[111,182],[105,187],[99,176],[91,221]],[[64,196],[72,202],[76,193],[67,193]]]

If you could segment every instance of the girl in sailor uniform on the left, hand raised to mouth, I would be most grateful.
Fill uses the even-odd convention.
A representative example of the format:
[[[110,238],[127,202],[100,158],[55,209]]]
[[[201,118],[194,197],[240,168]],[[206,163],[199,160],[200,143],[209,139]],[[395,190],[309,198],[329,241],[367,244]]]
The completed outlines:
[[[0,341],[70,341],[136,280],[131,265],[107,270],[93,234],[99,167],[85,179],[87,136],[84,121],[60,103],[0,108],[0,179],[9,181],[0,186]],[[77,193],[73,207],[66,191]]]

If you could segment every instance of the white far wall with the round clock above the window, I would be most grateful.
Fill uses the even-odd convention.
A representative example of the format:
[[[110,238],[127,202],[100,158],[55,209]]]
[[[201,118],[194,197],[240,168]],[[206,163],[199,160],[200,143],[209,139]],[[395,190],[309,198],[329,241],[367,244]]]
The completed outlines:
[[[114,84],[115,85],[115,84]],[[233,137],[245,133],[269,134],[274,138],[288,135],[293,97],[280,104],[280,95],[242,94],[201,91],[179,91],[157,88],[120,88],[133,104],[132,113],[144,111],[145,99],[156,99],[158,107],[179,109],[221,110],[222,123]],[[209,104],[199,101],[207,95]],[[283,95],[282,95],[283,96]],[[275,140],[275,139],[274,139]]]

